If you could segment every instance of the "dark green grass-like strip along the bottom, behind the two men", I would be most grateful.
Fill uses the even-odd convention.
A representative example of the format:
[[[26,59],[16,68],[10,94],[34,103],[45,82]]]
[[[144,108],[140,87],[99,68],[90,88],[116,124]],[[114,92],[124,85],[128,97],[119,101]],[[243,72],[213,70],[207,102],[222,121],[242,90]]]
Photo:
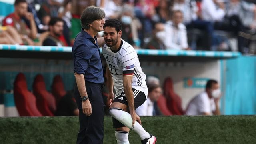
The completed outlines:
[[[142,117],[158,144],[255,144],[256,116]],[[0,118],[1,144],[74,144],[78,117]],[[116,144],[112,118],[104,118],[104,144]],[[130,131],[130,144],[140,144]]]

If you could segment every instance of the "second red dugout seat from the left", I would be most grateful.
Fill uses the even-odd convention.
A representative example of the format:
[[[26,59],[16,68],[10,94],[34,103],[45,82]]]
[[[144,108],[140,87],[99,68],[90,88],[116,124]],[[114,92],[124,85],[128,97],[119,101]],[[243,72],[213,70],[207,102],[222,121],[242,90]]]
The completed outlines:
[[[54,96],[46,90],[44,78],[38,74],[34,80],[33,92],[36,96],[38,110],[43,116],[54,116],[56,102]]]

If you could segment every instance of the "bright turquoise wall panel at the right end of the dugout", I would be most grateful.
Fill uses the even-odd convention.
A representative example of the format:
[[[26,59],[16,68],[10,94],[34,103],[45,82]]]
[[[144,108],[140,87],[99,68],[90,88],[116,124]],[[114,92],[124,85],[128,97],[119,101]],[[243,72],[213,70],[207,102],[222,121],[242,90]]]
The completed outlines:
[[[256,57],[221,60],[222,113],[256,114]]]

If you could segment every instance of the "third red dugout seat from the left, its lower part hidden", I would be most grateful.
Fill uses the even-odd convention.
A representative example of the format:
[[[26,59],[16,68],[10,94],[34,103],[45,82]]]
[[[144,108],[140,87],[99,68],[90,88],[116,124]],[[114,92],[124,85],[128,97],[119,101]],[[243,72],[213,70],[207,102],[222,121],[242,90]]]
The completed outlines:
[[[55,76],[52,82],[52,94],[55,97],[56,106],[58,106],[58,102],[63,96],[66,95],[66,93],[67,92],[64,88],[64,84],[61,76],[60,75]]]

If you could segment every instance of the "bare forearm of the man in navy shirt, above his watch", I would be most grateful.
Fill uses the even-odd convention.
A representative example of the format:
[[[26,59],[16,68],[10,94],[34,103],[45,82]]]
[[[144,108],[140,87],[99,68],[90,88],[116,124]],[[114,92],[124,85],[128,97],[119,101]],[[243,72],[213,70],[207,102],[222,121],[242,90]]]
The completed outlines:
[[[76,78],[76,85],[77,85],[80,96],[81,97],[82,96],[87,96],[84,74],[75,73],[75,78]]]

